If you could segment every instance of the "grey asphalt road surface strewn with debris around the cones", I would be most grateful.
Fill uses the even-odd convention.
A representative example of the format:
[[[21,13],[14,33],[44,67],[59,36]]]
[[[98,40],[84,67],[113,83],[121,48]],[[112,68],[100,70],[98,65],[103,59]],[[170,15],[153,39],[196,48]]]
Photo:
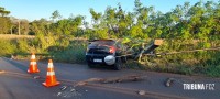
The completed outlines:
[[[59,86],[46,88],[47,62],[37,62],[38,74],[28,74],[29,61],[0,58],[0,99],[220,99],[220,79],[165,73],[110,68],[88,68],[86,65],[54,63]],[[143,80],[127,82],[76,82],[90,78],[112,78],[141,75]],[[40,78],[35,78],[40,77]],[[167,78],[174,78],[170,87]],[[215,84],[215,90],[184,90],[183,84]],[[66,88],[64,88],[66,87]],[[144,95],[139,91],[144,90]]]

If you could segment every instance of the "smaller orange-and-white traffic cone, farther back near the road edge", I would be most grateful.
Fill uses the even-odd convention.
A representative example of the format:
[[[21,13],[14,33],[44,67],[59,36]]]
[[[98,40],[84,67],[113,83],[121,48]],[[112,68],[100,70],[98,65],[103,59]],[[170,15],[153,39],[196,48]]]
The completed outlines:
[[[37,64],[36,64],[36,59],[35,59],[35,54],[32,53],[31,55],[31,62],[30,62],[30,66],[29,66],[29,69],[28,69],[28,73],[38,73],[38,68],[37,68]]]

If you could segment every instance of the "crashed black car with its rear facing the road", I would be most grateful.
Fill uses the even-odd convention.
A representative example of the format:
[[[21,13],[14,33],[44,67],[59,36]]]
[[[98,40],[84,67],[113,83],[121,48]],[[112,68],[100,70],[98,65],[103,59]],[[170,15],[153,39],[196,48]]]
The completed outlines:
[[[114,40],[95,40],[90,42],[86,52],[88,66],[95,64],[113,66],[114,69],[121,69],[122,62],[127,61],[127,46],[120,41]],[[123,55],[123,56],[122,56]]]

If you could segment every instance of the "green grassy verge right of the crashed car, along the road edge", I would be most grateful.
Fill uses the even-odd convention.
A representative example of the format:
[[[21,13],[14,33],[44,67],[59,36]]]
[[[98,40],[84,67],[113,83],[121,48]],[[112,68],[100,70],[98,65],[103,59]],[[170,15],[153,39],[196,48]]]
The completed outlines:
[[[196,54],[196,55],[195,55]],[[187,58],[190,56],[197,56]],[[206,57],[209,56],[209,57]],[[144,69],[183,75],[206,75],[220,77],[220,52],[184,53],[179,55],[145,56],[141,63],[128,62],[127,66],[133,69]]]

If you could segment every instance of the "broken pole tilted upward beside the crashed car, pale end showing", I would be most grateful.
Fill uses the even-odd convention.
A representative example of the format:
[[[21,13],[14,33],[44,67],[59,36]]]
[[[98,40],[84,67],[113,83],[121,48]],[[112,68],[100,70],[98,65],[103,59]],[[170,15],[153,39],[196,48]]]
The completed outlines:
[[[154,51],[156,47],[162,45],[162,43],[163,43],[163,40],[154,40],[154,42],[150,46],[143,48],[141,51],[141,53],[135,56],[135,59],[139,58],[139,62],[140,62],[143,54],[147,54],[147,53]]]

